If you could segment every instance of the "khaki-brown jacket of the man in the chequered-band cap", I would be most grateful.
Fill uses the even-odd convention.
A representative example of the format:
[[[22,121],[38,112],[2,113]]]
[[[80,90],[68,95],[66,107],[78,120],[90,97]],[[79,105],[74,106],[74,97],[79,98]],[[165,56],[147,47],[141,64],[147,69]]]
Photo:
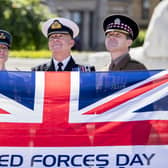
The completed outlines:
[[[126,54],[119,60],[116,65],[113,65],[113,63],[111,63],[109,66],[109,71],[122,70],[146,70],[146,67],[142,63],[131,59],[129,54]]]

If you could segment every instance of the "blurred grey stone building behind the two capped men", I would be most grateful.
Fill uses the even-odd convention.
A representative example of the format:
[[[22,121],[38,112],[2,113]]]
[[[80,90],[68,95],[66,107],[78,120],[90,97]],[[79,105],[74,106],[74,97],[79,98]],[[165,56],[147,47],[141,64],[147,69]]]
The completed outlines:
[[[79,50],[104,49],[102,22],[111,14],[125,14],[148,26],[153,9],[160,0],[42,0],[52,13],[74,20],[80,27],[76,39]]]

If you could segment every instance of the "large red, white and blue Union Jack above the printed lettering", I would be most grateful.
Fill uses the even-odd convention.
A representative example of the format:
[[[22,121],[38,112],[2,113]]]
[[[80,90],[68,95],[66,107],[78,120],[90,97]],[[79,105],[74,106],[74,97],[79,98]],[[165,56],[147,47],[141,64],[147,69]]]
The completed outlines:
[[[11,71],[0,78],[0,146],[168,144],[166,70]]]

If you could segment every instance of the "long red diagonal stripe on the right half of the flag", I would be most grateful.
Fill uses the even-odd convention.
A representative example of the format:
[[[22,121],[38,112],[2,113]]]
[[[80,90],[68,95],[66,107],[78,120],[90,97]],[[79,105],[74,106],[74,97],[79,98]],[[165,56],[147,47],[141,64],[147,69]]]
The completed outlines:
[[[92,110],[89,110],[88,112],[83,113],[83,115],[89,115],[89,114],[102,114],[106,111],[117,107],[118,105],[121,105],[122,103],[125,103],[128,100],[131,100],[149,90],[152,90],[164,83],[168,82],[168,75],[164,75],[163,77],[153,80],[151,82],[148,82],[144,85],[141,85],[137,88],[134,88],[130,91],[128,91],[125,94],[122,94],[121,96],[118,96],[117,98],[114,98],[107,103],[104,103],[102,105],[99,105],[96,108],[93,108]]]

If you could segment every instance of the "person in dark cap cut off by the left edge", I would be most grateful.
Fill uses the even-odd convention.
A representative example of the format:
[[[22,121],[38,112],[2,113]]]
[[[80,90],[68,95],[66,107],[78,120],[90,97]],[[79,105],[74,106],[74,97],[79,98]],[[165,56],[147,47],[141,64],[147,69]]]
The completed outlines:
[[[5,64],[8,60],[9,49],[12,43],[12,36],[6,30],[0,30],[0,70],[5,70]]]

